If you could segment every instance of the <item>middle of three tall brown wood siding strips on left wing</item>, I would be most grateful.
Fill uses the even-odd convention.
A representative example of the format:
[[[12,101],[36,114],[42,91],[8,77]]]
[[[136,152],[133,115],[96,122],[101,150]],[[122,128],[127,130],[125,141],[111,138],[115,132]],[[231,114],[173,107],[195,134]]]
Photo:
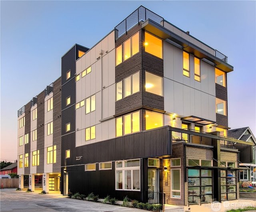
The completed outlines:
[[[44,173],[44,91],[37,96],[37,150],[39,166],[36,166],[36,173]]]

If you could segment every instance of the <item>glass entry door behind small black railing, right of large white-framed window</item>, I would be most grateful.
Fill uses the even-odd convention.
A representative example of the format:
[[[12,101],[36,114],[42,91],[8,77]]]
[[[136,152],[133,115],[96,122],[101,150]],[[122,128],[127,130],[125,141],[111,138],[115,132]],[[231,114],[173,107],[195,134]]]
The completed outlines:
[[[159,192],[159,169],[148,168],[148,199],[149,201],[154,199],[154,202],[158,202]]]

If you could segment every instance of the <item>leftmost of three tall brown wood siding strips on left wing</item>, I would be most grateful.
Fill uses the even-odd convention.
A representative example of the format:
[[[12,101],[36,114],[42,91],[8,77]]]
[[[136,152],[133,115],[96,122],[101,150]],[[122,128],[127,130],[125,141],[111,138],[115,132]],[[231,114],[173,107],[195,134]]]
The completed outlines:
[[[30,174],[30,125],[31,125],[31,105],[30,102],[25,105],[25,135],[28,134],[28,144],[25,145],[25,136],[23,145],[25,145],[25,154],[28,153],[28,167],[24,167],[24,174]],[[25,157],[23,160],[25,164]]]

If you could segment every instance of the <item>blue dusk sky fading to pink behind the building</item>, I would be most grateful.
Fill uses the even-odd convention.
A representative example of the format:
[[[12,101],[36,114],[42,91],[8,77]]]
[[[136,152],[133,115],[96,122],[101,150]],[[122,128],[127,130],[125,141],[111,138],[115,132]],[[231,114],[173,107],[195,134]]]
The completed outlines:
[[[17,159],[18,110],[140,5],[228,56],[228,125],[256,136],[256,1],[0,1],[0,160]]]

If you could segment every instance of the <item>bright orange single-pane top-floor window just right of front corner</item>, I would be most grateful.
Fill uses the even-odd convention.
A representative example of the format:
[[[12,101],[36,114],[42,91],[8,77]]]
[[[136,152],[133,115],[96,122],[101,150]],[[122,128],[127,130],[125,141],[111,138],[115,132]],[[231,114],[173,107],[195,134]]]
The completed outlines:
[[[156,38],[155,36],[145,32],[145,52],[148,52],[156,57],[162,57],[162,40]]]

